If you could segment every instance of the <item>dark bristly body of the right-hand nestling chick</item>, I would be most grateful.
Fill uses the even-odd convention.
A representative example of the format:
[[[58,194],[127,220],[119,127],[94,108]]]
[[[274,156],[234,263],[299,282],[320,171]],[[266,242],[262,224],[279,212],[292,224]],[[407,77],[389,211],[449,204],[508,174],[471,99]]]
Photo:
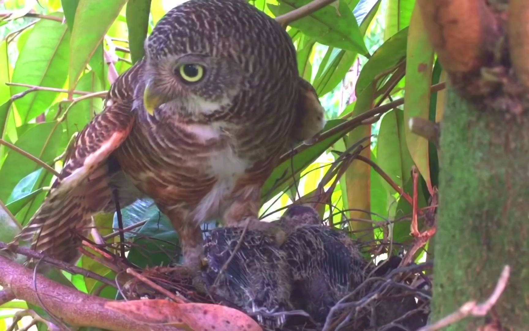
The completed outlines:
[[[345,234],[320,225],[298,227],[281,246],[290,266],[296,309],[325,321],[338,300],[363,281],[363,260]]]

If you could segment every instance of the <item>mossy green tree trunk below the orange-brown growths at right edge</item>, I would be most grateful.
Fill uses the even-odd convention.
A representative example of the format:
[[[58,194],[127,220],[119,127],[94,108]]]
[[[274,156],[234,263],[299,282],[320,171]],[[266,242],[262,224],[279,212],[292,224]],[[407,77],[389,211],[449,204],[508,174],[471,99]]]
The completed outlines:
[[[529,112],[477,108],[452,90],[446,97],[432,321],[488,298],[508,264],[507,288],[488,317],[448,329],[476,330],[490,318],[529,329]]]

